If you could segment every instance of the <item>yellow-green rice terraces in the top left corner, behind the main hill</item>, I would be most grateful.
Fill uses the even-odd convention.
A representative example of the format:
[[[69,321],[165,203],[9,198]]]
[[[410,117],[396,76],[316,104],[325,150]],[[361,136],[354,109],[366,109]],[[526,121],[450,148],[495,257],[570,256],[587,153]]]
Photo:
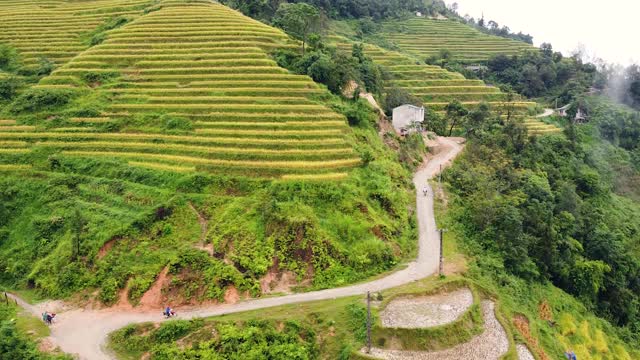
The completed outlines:
[[[115,16],[133,18],[152,0],[0,0],[0,43],[16,47],[22,63],[64,64],[89,47],[83,35]]]

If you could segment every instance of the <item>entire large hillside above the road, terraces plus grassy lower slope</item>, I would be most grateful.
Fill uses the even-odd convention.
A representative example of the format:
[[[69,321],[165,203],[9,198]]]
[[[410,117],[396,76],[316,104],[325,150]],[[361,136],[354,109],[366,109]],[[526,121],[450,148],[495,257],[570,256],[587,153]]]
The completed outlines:
[[[205,38],[220,40],[224,36],[229,42],[223,47],[232,57],[239,51],[257,54],[257,61],[265,64],[257,69],[261,75],[244,73],[242,69],[253,71],[254,67],[242,65],[239,73],[226,74],[237,70],[229,60],[202,60],[210,75],[185,68],[191,61],[185,57],[192,56],[192,50],[174,49],[184,45],[185,35],[178,34],[171,40],[150,30],[158,21],[179,27],[180,19],[235,26],[236,30],[227,33],[214,28],[192,30],[205,32],[201,35]],[[265,33],[266,38],[234,35],[243,27]],[[139,43],[138,35],[149,31],[155,34],[155,45]],[[238,41],[234,42],[236,37]],[[196,47],[219,45],[201,40]],[[45,78],[31,89],[35,98],[19,98],[13,110],[16,104],[38,102],[43,94],[49,99],[51,94],[79,92],[64,106],[22,109],[15,113],[17,121],[4,118],[0,123],[0,282],[36,289],[51,297],[97,297],[107,304],[114,303],[126,288],[129,301],[135,304],[168,267],[172,281],[165,284],[163,295],[179,303],[222,300],[231,288],[259,295],[259,280],[269,270],[288,271],[298,281],[306,281],[307,287],[323,288],[378,274],[409,257],[415,250],[410,241],[415,238],[415,224],[407,212],[413,203],[408,171],[382,144],[370,123],[349,129],[344,117],[330,109],[342,105],[339,99],[330,97],[308,78],[290,75],[263,59],[261,44],[287,46],[287,39],[280,31],[220,5],[167,1],[162,8],[110,31],[102,45],[91,47]],[[250,50],[245,50],[247,45]],[[162,51],[154,52],[152,60],[138,58],[147,54],[145,50],[156,48]],[[96,56],[107,52],[115,57],[105,57],[98,64]],[[130,55],[136,58],[132,60]],[[220,55],[224,52],[211,53]],[[173,61],[182,67],[173,66]],[[152,66],[147,67],[149,62]],[[96,71],[98,68],[108,69],[107,73],[115,69],[123,76],[94,77],[104,73]],[[262,73],[263,68],[268,73]],[[140,75],[145,71],[151,78]],[[83,76],[87,73],[91,75]],[[162,80],[156,79],[156,73],[162,74],[158,75]],[[247,77],[255,81],[247,85],[242,81]],[[201,83],[193,89],[185,87],[185,81],[191,81],[185,79]],[[225,106],[221,102],[234,99],[247,102],[242,93],[251,94],[247,86],[254,85],[251,91],[273,95],[276,100],[265,100],[264,107],[275,113],[198,110],[220,111]],[[126,93],[132,89],[151,95],[145,95],[149,96],[145,100],[110,97],[115,90]],[[153,93],[168,90],[184,92],[171,99],[193,112],[177,116],[162,111],[174,104],[163,97],[166,94],[154,100],[158,95]],[[223,90],[230,98],[217,93]],[[305,90],[322,96],[317,98],[317,94]],[[193,91],[216,94],[199,99]],[[283,92],[297,97],[290,99]],[[185,104],[181,104],[183,100]],[[109,110],[109,104],[131,108],[148,105],[153,111],[122,116]],[[246,105],[251,109],[255,104]],[[13,110],[4,109],[5,114]],[[329,121],[318,119],[323,115]],[[301,133],[280,134],[283,127],[279,125],[285,123]],[[220,128],[225,132],[217,133]],[[318,133],[327,128],[329,135]],[[98,142],[100,138],[103,140]],[[194,139],[200,141],[197,145],[201,148],[189,144]],[[362,157],[366,162],[355,168],[348,166],[338,177],[327,176],[332,169],[307,171],[296,162],[296,156],[311,156],[303,158],[311,162],[314,157],[319,162],[325,157],[333,161],[331,153],[317,152],[334,148],[331,139],[339,142],[338,150],[346,150],[348,158]],[[242,174],[251,175],[245,177],[224,166],[194,166],[181,158],[177,163],[171,160],[149,166],[148,160],[129,164],[127,159],[105,155],[129,147],[134,150],[127,152],[142,149],[140,153],[164,154],[170,152],[164,148],[172,142],[174,152],[202,159],[227,156],[222,150],[230,149],[237,150],[235,155],[231,151],[231,156],[245,162],[269,165],[265,156],[279,157],[289,172],[312,176],[273,181],[268,178],[281,176],[282,172],[252,167],[243,170]],[[223,142],[223,149],[212,144],[216,142]],[[259,151],[251,150],[256,147]],[[262,155],[265,147],[271,153]],[[71,148],[89,152],[73,156],[63,152]],[[303,155],[289,155],[287,150]],[[338,156],[342,155],[338,152]],[[202,232],[198,213],[208,223],[206,233]],[[206,244],[213,246],[213,256],[198,249]]]

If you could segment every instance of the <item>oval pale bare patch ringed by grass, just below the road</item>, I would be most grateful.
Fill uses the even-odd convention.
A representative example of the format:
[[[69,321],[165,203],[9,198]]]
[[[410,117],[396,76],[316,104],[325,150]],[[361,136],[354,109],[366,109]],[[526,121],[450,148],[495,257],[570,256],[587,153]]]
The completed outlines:
[[[473,305],[471,290],[464,288],[430,296],[407,297],[391,301],[380,314],[389,328],[418,329],[456,321]]]

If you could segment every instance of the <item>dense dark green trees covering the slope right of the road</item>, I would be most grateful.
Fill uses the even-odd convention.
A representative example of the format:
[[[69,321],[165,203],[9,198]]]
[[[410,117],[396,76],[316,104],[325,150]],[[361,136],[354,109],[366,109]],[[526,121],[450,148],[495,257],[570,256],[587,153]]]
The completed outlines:
[[[598,123],[596,118],[594,123]],[[517,124],[492,120],[472,134],[445,178],[480,266],[529,281],[552,281],[638,336],[635,256],[640,209],[611,192],[615,176],[597,140],[526,141]],[[622,295],[624,294],[624,295]]]

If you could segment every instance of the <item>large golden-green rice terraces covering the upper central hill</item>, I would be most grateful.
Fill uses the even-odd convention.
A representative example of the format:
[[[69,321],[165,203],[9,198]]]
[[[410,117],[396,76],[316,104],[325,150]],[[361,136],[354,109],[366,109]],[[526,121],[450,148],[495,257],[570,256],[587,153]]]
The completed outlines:
[[[297,46],[283,32],[212,2],[161,5],[37,85],[86,92],[86,74],[116,73],[116,82],[89,90],[108,97],[103,114],[47,130],[7,123],[0,142],[174,172],[323,180],[359,165],[344,117],[312,100],[326,90],[270,59],[272,48]],[[98,130],[158,114],[190,120],[193,128]]]

